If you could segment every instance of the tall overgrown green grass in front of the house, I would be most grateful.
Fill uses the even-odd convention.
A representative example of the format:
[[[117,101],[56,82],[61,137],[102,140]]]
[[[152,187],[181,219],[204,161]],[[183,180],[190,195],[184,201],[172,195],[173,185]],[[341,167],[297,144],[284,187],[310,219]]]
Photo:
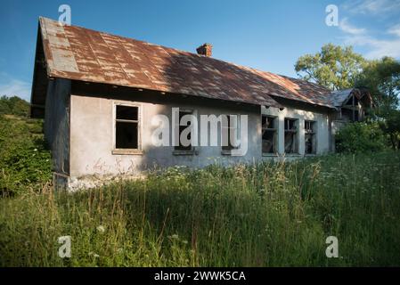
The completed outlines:
[[[0,265],[400,265],[400,155],[184,167],[0,199]],[[70,258],[57,239],[69,235]],[[327,258],[325,239],[339,240]]]

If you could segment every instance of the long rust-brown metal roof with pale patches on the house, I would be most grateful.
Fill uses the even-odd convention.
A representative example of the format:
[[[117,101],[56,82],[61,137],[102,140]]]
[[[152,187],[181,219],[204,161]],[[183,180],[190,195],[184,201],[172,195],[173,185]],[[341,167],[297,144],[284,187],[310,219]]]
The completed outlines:
[[[330,90],[283,77],[40,18],[47,75],[174,94],[282,107],[278,96],[333,108]]]

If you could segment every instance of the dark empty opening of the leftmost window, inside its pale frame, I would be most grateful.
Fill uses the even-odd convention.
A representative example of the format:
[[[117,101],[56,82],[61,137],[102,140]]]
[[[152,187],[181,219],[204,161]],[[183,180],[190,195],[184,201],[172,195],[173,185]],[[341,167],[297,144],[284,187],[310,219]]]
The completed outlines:
[[[139,149],[139,107],[116,105],[115,148]]]

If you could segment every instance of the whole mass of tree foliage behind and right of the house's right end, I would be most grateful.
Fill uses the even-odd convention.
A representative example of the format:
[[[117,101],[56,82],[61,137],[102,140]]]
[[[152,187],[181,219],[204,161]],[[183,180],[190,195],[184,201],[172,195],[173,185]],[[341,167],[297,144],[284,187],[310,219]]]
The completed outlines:
[[[319,53],[300,56],[295,69],[299,77],[331,90],[367,87],[374,103],[372,124],[380,126],[388,135],[394,149],[400,149],[399,61],[391,57],[368,61],[351,46],[328,44],[323,45]],[[349,129],[358,130],[352,126]],[[355,134],[361,133],[356,131]]]

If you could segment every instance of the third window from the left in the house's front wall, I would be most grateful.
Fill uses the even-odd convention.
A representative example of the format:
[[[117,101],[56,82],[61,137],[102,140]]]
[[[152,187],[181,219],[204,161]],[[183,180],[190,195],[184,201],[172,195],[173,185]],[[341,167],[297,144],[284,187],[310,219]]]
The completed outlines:
[[[227,115],[226,119],[222,120],[222,150],[223,151],[232,151],[233,149],[237,149],[238,138],[241,134],[240,132],[240,122],[239,115]]]

